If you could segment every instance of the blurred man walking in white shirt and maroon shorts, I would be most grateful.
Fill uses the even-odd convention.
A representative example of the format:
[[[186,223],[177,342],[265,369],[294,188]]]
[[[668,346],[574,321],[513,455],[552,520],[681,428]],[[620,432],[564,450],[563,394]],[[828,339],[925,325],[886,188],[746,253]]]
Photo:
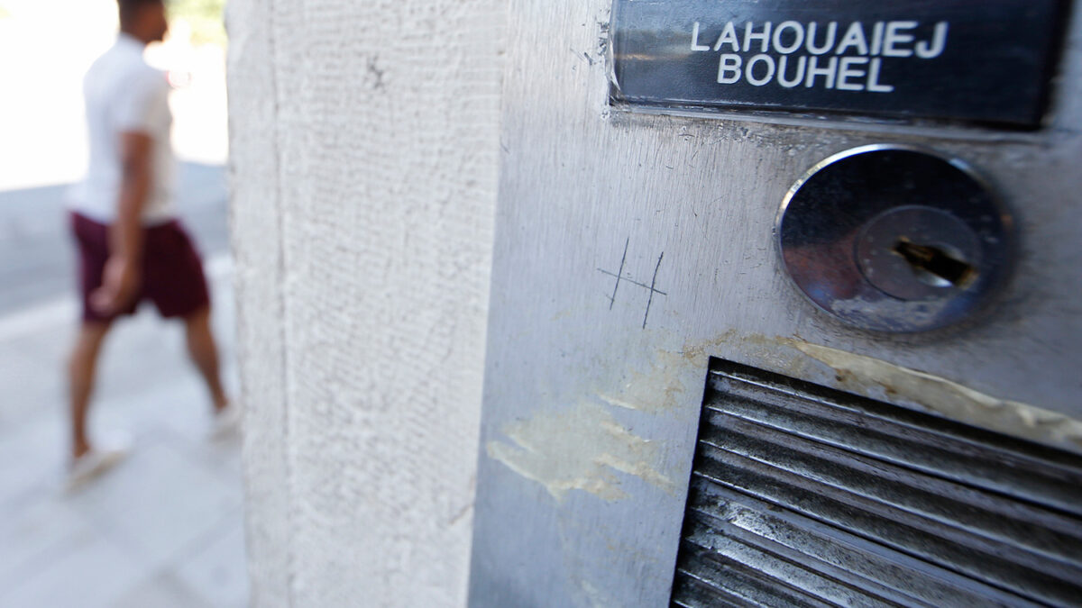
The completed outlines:
[[[96,449],[87,411],[102,343],[113,321],[143,300],[185,325],[188,353],[210,389],[215,431],[236,424],[219,375],[202,264],[172,212],[172,117],[164,74],[143,61],[168,29],[163,0],[118,0],[120,35],[83,81],[90,134],[87,179],[71,194],[82,325],[69,364],[69,485],[104,472],[122,452]]]

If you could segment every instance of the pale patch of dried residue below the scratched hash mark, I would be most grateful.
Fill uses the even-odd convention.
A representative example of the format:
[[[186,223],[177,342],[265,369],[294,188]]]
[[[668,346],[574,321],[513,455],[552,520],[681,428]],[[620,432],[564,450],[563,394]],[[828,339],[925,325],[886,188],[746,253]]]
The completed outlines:
[[[621,426],[604,408],[583,404],[565,411],[542,411],[504,433],[514,446],[489,441],[488,455],[545,487],[557,501],[583,490],[607,501],[628,497],[617,472],[672,491],[673,483],[655,468],[659,446]]]

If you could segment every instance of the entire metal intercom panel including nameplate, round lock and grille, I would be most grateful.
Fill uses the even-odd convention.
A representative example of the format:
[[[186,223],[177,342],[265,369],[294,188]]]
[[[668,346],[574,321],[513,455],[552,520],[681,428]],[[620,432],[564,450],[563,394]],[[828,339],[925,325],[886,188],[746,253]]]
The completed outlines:
[[[512,2],[471,604],[663,606],[709,578],[689,573],[688,539],[726,533],[748,548],[714,573],[745,591],[859,578],[897,604],[1070,604],[1080,13],[1058,0]],[[712,361],[789,386],[756,398],[819,435],[754,452],[781,431],[712,409]],[[822,391],[844,398],[827,407]],[[898,433],[883,417],[921,431],[873,446]],[[743,441],[744,460],[718,457],[716,487],[696,463],[700,420]],[[782,459],[793,492],[859,478],[845,500],[894,506],[786,511],[803,499],[769,494],[781,481],[765,474]],[[987,466],[1003,459],[1008,480]],[[842,464],[853,475],[827,484]],[[717,517],[688,519],[689,505]],[[749,544],[740,521],[803,544]],[[868,544],[899,526],[896,544]],[[995,553],[990,538],[1025,551],[959,554]],[[792,569],[812,554],[818,570]],[[898,568],[936,582],[910,593]]]

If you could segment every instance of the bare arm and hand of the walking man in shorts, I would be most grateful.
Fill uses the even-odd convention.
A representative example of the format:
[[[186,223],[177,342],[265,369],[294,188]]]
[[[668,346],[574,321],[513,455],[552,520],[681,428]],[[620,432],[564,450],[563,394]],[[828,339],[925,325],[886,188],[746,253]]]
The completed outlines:
[[[150,194],[154,140],[146,133],[120,135],[123,173],[117,220],[109,229],[109,260],[102,287],[91,294],[91,304],[111,314],[127,306],[138,291],[143,266],[143,208]]]

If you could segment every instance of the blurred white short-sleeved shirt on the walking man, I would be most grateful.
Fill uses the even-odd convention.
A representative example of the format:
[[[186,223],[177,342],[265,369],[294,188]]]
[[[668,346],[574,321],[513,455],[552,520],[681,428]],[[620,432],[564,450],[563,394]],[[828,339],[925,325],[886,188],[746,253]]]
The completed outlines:
[[[154,140],[151,182],[143,224],[173,217],[173,150],[169,129],[169,81],[143,60],[142,42],[121,34],[91,65],[83,78],[90,166],[87,177],[69,194],[69,207],[91,220],[111,224],[117,217],[122,166],[120,134],[146,133]]]

